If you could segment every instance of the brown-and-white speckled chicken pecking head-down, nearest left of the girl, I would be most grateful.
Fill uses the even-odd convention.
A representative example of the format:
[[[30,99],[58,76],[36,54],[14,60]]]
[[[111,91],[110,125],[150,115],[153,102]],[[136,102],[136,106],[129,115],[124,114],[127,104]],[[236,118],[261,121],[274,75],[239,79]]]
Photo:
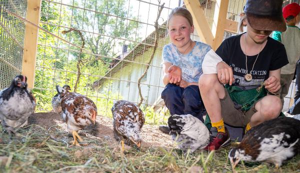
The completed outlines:
[[[134,103],[125,100],[116,101],[111,107],[113,117],[114,137],[121,140],[121,152],[124,151],[124,142],[134,143],[140,147],[140,130],[145,117],[141,109]]]

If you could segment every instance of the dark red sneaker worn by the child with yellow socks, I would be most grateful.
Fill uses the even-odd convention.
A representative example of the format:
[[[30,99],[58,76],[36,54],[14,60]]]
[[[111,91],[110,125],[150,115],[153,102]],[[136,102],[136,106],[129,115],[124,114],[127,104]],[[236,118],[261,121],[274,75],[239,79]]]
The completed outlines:
[[[217,150],[221,147],[227,146],[230,143],[230,137],[229,132],[227,128],[225,127],[225,133],[223,132],[217,132],[216,127],[211,127],[210,132],[210,142],[209,144],[204,148],[205,150]]]

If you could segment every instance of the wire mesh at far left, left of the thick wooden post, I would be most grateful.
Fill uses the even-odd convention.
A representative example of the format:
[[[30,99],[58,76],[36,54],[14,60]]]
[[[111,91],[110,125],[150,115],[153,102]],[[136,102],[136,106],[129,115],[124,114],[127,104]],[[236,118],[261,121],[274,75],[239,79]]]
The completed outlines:
[[[21,73],[25,24],[4,9],[25,17],[27,0],[0,0],[0,89]]]

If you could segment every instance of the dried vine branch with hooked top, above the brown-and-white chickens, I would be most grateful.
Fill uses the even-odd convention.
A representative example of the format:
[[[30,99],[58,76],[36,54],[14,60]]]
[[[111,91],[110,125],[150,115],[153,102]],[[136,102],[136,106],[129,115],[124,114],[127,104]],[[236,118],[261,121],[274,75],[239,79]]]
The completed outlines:
[[[81,41],[82,41],[81,48],[80,48],[80,51],[79,51],[79,54],[78,54],[77,64],[76,64],[76,67],[77,67],[77,79],[76,79],[75,85],[74,85],[74,92],[76,92],[76,90],[77,90],[77,84],[79,82],[79,78],[80,78],[80,75],[81,75],[80,67],[82,67],[82,63],[87,62],[87,60],[86,59],[81,59],[81,57],[80,57],[80,55],[82,53],[82,49],[84,48],[84,44],[85,44],[85,41],[84,41],[84,38],[83,38],[83,35],[82,35],[81,31],[78,30],[78,29],[75,29],[75,28],[70,28],[69,30],[63,30],[63,31],[61,31],[61,33],[65,34],[65,33],[68,33],[68,32],[70,32],[72,30],[74,30],[74,31],[76,31],[76,32],[79,33],[79,35],[81,37]]]

